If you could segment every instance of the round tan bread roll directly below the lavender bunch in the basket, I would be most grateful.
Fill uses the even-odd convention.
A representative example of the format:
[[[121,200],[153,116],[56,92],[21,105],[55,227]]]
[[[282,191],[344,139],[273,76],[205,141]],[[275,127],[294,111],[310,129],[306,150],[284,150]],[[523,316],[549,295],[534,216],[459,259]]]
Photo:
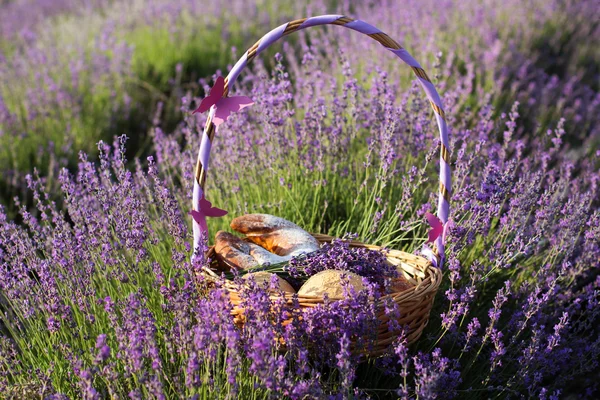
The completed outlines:
[[[349,280],[350,285],[358,293],[364,289],[362,278],[353,272],[326,269],[314,274],[298,290],[299,295],[304,296],[327,296],[331,299],[344,298],[343,280]]]

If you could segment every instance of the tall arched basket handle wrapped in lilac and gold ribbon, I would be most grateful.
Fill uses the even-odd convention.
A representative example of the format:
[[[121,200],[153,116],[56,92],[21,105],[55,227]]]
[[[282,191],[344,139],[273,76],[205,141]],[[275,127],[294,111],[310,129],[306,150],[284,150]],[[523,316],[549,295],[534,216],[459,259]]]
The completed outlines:
[[[295,21],[285,23],[263,36],[258,42],[256,42],[252,47],[250,47],[248,51],[246,51],[246,53],[244,53],[244,55],[238,60],[238,62],[229,72],[229,75],[227,75],[227,78],[225,78],[225,91],[223,92],[223,97],[226,97],[228,95],[229,87],[231,86],[231,84],[233,84],[233,82],[235,82],[242,69],[244,69],[244,67],[250,61],[252,61],[259,53],[261,53],[263,50],[265,50],[267,47],[269,47],[271,44],[273,44],[283,36],[286,36],[295,31],[299,31],[301,29],[317,25],[339,25],[344,28],[349,28],[363,33],[381,43],[383,47],[394,53],[412,68],[413,72],[419,80],[419,83],[423,87],[427,98],[429,99],[431,107],[433,108],[438,125],[438,130],[440,133],[440,184],[437,216],[443,224],[446,224],[450,208],[451,193],[450,143],[448,141],[448,126],[446,124],[446,115],[442,107],[440,96],[435,90],[435,87],[433,86],[433,83],[427,76],[425,70],[408,53],[408,51],[402,48],[402,46],[400,46],[398,42],[390,38],[387,34],[381,32],[374,26],[369,25],[364,21],[355,20],[343,15],[320,15],[311,18],[297,19]],[[200,150],[198,152],[198,160],[196,162],[196,173],[194,179],[194,192],[192,199],[192,207],[194,210],[199,210],[200,199],[204,192],[210,148],[216,132],[216,126],[212,122],[214,113],[215,107],[212,107],[206,120],[206,125],[202,134]],[[192,224],[194,229],[195,255],[196,252],[199,251],[199,249],[201,248],[203,237],[208,237],[208,232],[203,232],[204,228],[202,228],[195,219],[193,220]],[[444,258],[444,242],[442,235],[440,235],[440,237],[437,238],[433,250],[429,249],[428,247],[425,247],[424,254],[428,256],[428,258],[430,258],[435,265],[441,266],[441,262]]]

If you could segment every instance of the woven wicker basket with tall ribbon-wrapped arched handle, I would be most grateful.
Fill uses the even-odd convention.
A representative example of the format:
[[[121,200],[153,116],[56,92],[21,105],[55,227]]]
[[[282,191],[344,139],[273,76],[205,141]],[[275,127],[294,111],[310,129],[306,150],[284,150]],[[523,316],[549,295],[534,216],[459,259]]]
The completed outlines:
[[[369,25],[360,20],[354,20],[342,15],[322,15],[312,18],[304,18],[283,24],[271,32],[267,33],[262,39],[256,42],[235,64],[227,78],[225,79],[225,90],[223,96],[226,97],[229,92],[230,85],[239,76],[241,70],[260,52],[266,49],[273,42],[277,41],[281,37],[292,33],[297,30],[301,30],[307,27],[316,25],[337,25],[352,30],[361,32],[368,35],[372,39],[382,44],[387,50],[394,53],[402,61],[408,64],[413,72],[415,73],[419,83],[423,87],[425,94],[427,95],[429,102],[434,111],[438,129],[440,133],[440,185],[439,185],[439,200],[438,200],[438,211],[437,215],[442,223],[446,223],[448,219],[449,211],[449,199],[450,199],[450,151],[448,142],[448,128],[446,125],[446,117],[441,105],[439,95],[437,94],[431,80],[427,76],[427,73],[417,63],[417,61],[396,41],[391,39],[388,35],[381,32],[377,28]],[[211,143],[216,133],[216,127],[213,124],[213,117],[215,114],[215,108],[211,108],[204,133],[202,137],[202,144],[198,154],[198,161],[196,164],[196,174],[194,180],[194,193],[193,193],[193,208],[199,210],[200,199],[204,193],[204,186],[206,181],[206,171],[209,161],[209,154]],[[206,232],[206,223],[198,223],[193,221],[194,228],[194,249],[195,252],[199,251],[202,244],[202,239],[208,237]],[[333,240],[331,236],[315,234],[314,235],[319,242],[330,242]],[[361,242],[351,242],[351,246],[355,247],[366,247],[372,250],[380,250],[381,248],[374,245],[364,244]],[[444,243],[443,236],[440,235],[435,241],[432,248],[425,247],[423,254],[427,258],[405,253],[397,250],[387,250],[386,254],[388,261],[396,265],[398,271],[404,275],[414,286],[398,293],[392,293],[387,295],[391,297],[394,302],[399,306],[401,316],[398,320],[400,325],[408,328],[408,342],[414,343],[422,334],[423,329],[427,325],[429,320],[429,314],[433,305],[434,297],[437,289],[441,283],[441,268],[444,258]],[[208,251],[208,256],[213,258],[214,249],[211,248]],[[209,279],[217,279],[215,271],[206,268],[203,272]],[[244,323],[244,310],[240,305],[239,292],[242,288],[237,286],[232,281],[226,283],[226,287],[229,289],[230,298],[234,305],[232,309],[232,315],[234,321],[239,325]],[[273,294],[275,296],[275,294]],[[291,295],[290,295],[291,296]],[[300,307],[310,308],[318,304],[322,304],[324,299],[322,297],[313,296],[298,296]],[[384,298],[385,299],[385,298]],[[385,352],[389,345],[395,340],[399,332],[392,332],[388,330],[388,317],[383,312],[381,303],[384,299],[379,300],[378,304],[378,318],[380,320],[379,330],[375,340],[375,345],[368,351],[370,356],[378,356]],[[291,301],[289,302],[291,303]]]

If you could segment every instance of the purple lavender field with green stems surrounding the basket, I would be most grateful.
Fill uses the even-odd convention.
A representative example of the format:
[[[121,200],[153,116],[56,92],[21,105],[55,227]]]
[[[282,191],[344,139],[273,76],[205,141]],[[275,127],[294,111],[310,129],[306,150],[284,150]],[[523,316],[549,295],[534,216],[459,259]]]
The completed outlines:
[[[374,293],[288,324],[250,285],[240,329],[190,258],[192,111],[262,35],[320,14],[410,51],[449,126],[442,285],[420,340],[378,358],[352,342]],[[420,254],[440,141],[411,68],[313,27],[231,92],[255,104],[214,139],[206,189],[230,214],[209,232],[266,213]],[[597,399],[599,362],[597,1],[0,0],[0,399]]]

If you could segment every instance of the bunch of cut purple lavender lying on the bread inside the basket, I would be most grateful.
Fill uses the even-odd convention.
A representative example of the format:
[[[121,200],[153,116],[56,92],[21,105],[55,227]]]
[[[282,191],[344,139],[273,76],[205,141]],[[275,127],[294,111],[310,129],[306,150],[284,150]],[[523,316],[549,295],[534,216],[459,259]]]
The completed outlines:
[[[284,271],[291,277],[301,279],[328,269],[353,272],[372,283],[382,286],[386,278],[398,276],[396,267],[390,264],[384,253],[335,239],[325,243],[319,251],[295,257]]]

